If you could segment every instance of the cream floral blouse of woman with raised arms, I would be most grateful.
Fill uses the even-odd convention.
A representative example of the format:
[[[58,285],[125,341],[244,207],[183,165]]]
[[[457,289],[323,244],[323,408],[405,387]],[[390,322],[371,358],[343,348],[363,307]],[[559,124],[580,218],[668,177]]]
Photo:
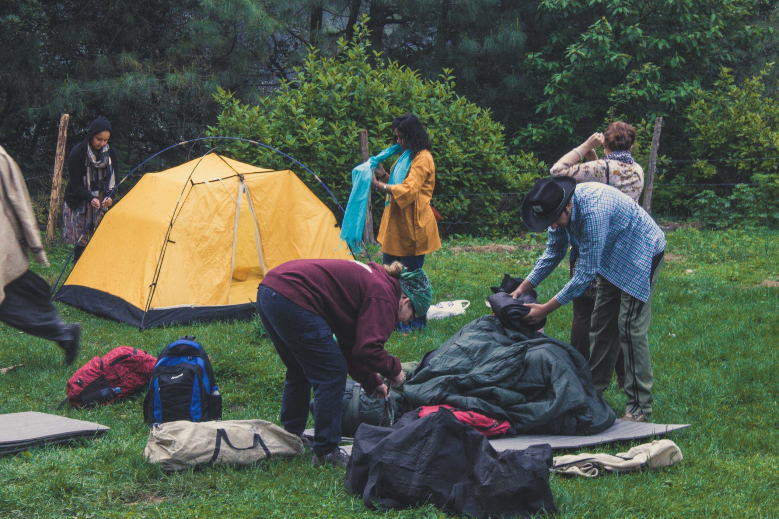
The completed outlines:
[[[619,189],[634,201],[643,191],[643,168],[639,163],[626,164],[619,160],[590,160],[573,166],[555,163],[549,170],[552,177],[572,177],[577,182],[600,182]]]

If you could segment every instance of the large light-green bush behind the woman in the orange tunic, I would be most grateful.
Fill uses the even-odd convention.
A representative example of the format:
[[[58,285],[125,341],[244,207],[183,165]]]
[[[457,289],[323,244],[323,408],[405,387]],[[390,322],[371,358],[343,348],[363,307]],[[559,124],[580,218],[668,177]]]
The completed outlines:
[[[393,118],[417,114],[428,129],[435,159],[433,199],[445,222],[442,231],[506,233],[520,230],[519,194],[527,191],[544,167],[532,154],[509,155],[502,124],[489,110],[455,92],[450,70],[440,81],[421,79],[396,61],[369,51],[365,19],[354,39],[338,43],[335,57],[313,48],[296,77],[283,80],[277,93],[254,106],[220,90],[221,113],[208,135],[229,135],[263,142],[311,168],[345,205],[351,191],[351,169],[361,162],[358,132],[368,130],[370,153],[392,144]],[[294,163],[268,149],[245,142],[219,142],[229,153],[263,167],[296,170],[326,204],[337,210],[321,186]],[[385,164],[389,171],[391,164]],[[512,195],[483,195],[484,193]],[[383,201],[373,196],[378,226]]]

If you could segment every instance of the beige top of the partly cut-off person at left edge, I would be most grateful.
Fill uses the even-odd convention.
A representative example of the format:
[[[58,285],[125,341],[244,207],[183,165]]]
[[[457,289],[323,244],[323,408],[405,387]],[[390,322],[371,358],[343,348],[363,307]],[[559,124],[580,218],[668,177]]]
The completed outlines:
[[[27,251],[48,266],[22,170],[0,146],[0,303],[5,286],[30,268]]]

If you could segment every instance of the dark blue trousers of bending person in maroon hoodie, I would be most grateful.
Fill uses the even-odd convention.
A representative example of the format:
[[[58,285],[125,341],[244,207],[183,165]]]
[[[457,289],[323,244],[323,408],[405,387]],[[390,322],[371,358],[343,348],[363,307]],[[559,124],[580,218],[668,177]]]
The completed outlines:
[[[264,285],[257,290],[257,311],[281,362],[287,366],[281,425],[290,433],[303,433],[313,387],[312,450],[318,456],[330,454],[341,439],[341,402],[347,374],[333,332],[322,317]]]

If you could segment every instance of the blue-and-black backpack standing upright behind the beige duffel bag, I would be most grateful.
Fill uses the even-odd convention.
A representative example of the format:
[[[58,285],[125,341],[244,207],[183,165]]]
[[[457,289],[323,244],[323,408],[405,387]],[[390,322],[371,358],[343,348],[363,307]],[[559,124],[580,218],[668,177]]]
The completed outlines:
[[[207,422],[222,418],[222,396],[203,345],[187,335],[157,357],[143,400],[146,423]]]

